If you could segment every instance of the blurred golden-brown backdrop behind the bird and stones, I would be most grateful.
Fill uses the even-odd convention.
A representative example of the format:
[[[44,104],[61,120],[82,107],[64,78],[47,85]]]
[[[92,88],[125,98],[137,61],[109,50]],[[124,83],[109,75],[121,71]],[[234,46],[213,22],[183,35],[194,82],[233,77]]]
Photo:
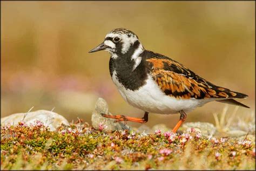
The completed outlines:
[[[255,109],[255,2],[1,2],[1,115],[52,110],[91,122],[99,97],[113,114],[143,117],[109,74],[110,54],[88,53],[115,28],[135,32],[146,49],[179,61],[219,86],[248,94]],[[211,102],[187,121],[214,122]],[[234,106],[229,105],[232,111]],[[150,114],[147,126],[173,127],[179,114]],[[129,123],[132,126],[140,124]]]

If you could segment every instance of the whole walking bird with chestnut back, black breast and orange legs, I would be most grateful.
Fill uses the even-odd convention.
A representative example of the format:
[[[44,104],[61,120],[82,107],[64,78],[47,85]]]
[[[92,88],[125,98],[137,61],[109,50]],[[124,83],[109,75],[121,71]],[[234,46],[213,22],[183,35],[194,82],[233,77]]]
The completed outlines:
[[[123,99],[145,112],[143,118],[102,113],[105,118],[115,119],[114,122],[145,123],[149,113],[180,113],[179,121],[172,129],[176,133],[185,121],[186,113],[207,102],[219,101],[250,108],[234,100],[248,95],[210,83],[178,61],[146,50],[138,36],[130,30],[111,30],[103,43],[89,53],[102,50],[111,55],[110,76]]]

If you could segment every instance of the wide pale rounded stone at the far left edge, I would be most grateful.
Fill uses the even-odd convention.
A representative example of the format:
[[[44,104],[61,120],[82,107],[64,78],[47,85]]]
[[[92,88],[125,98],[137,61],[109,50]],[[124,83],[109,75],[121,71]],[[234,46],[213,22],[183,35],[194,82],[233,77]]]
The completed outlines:
[[[62,124],[69,125],[68,120],[62,115],[46,110],[11,114],[1,118],[1,125],[17,125],[20,121],[24,121],[26,125],[35,124],[36,121],[41,121],[45,126],[50,128],[50,131],[56,131],[57,127]]]

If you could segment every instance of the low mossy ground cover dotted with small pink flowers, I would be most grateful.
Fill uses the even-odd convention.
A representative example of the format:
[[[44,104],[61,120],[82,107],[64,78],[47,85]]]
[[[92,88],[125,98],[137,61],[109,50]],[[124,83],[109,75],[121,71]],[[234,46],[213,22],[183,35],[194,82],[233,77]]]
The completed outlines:
[[[104,127],[102,127],[104,129]],[[49,131],[1,126],[2,169],[255,169],[255,142],[156,131],[105,133],[88,124]]]

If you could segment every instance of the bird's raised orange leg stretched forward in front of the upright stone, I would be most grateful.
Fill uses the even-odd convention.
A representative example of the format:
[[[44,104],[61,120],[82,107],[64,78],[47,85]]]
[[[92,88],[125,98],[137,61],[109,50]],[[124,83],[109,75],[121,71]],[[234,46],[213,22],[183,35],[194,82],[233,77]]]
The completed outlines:
[[[132,121],[132,122],[139,122],[139,123],[146,123],[149,120],[149,112],[145,112],[143,118],[133,118],[133,117],[126,117],[125,115],[110,115],[102,113],[102,116],[105,118],[116,119],[114,122],[121,122],[124,121]]]

